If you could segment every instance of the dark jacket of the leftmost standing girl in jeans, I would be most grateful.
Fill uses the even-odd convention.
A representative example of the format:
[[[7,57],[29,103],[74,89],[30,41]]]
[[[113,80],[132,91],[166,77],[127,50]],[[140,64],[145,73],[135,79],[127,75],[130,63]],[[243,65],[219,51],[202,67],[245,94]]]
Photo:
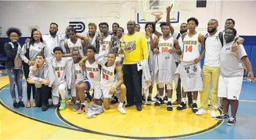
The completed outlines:
[[[21,45],[21,44],[20,44]],[[22,46],[22,45],[21,45]],[[18,52],[18,43],[14,44],[14,48],[12,48],[12,45],[6,42],[4,44],[4,51],[7,56],[7,60],[5,62],[5,68],[7,69],[13,69],[14,68],[14,60],[16,58],[17,52]]]

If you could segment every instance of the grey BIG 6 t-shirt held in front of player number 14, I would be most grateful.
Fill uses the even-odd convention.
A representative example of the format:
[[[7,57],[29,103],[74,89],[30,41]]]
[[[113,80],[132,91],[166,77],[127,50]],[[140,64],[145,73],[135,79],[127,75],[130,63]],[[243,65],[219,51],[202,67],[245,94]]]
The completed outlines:
[[[186,63],[181,61],[175,72],[175,76],[180,75],[184,92],[194,92],[203,90],[201,67],[197,63]]]

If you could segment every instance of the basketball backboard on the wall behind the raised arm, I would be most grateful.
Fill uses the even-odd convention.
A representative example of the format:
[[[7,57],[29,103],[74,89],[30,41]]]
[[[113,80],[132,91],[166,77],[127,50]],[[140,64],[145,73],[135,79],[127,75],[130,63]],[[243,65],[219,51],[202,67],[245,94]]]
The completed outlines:
[[[173,4],[173,5],[172,5]],[[178,23],[180,12],[178,12],[178,0],[141,0],[139,1],[139,10],[137,13],[137,23],[146,24],[155,21],[155,14],[162,14],[160,22],[166,22],[166,8],[172,5],[170,11],[170,22]],[[153,15],[152,15],[153,13]]]

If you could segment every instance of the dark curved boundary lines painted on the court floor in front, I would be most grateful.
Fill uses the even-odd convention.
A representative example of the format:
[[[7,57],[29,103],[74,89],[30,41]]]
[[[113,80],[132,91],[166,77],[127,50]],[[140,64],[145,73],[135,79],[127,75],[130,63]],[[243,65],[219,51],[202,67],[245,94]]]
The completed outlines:
[[[7,84],[9,85],[9,84]],[[7,87],[7,85],[4,85],[4,87]],[[1,87],[0,88],[0,93],[2,92],[2,88],[4,87]],[[40,119],[36,119],[36,118],[32,118],[31,116],[27,116],[27,115],[24,115],[23,113],[20,113],[20,112],[17,112],[16,110],[13,110],[12,108],[8,107],[7,105],[4,104],[4,102],[2,102],[2,100],[0,99],[0,105],[2,105],[2,107],[6,108],[7,110],[9,110],[10,112],[13,112],[17,115],[20,115],[24,118],[27,118],[27,119],[32,119],[33,121],[37,121],[37,122],[41,122],[41,123],[44,123],[44,124],[48,124],[48,125],[52,125],[52,126],[55,126],[55,127],[60,127],[60,128],[66,128],[66,129],[69,129],[69,130],[75,130],[75,131],[78,131],[78,132],[86,132],[86,133],[92,133],[92,134],[95,134],[95,135],[101,135],[101,136],[111,136],[111,137],[115,137],[115,138],[129,138],[129,139],[170,139],[170,138],[186,138],[186,137],[189,137],[189,136],[196,136],[196,135],[200,135],[200,134],[203,134],[203,133],[206,133],[206,132],[209,132],[211,130],[214,130],[215,128],[219,127],[221,124],[223,124],[224,120],[220,120],[218,121],[216,124],[212,125],[211,127],[209,128],[206,128],[204,130],[201,130],[199,132],[194,132],[194,133],[189,133],[189,134],[186,134],[186,135],[178,135],[178,136],[164,136],[164,137],[137,137],[137,136],[121,136],[121,135],[111,135],[111,134],[107,134],[107,133],[101,133],[101,132],[95,132],[95,131],[92,131],[92,130],[88,130],[86,128],[82,128],[82,127],[79,127],[75,124],[72,124],[71,122],[67,121],[66,119],[64,119],[62,116],[61,116],[61,113],[59,112],[59,108],[56,108],[56,113],[57,113],[57,117],[59,119],[61,119],[61,121],[64,121],[66,122],[65,124],[68,124],[70,125],[71,127],[66,127],[66,126],[63,126],[63,125],[58,125],[58,124],[53,124],[52,122],[47,122],[47,121],[42,121]],[[220,109],[218,109],[218,111],[221,113],[222,111]],[[72,128],[74,127],[74,128]]]

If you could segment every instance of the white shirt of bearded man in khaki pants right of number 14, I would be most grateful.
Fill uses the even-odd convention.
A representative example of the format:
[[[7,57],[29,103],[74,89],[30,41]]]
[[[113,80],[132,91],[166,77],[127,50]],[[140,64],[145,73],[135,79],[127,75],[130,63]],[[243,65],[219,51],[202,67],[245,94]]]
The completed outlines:
[[[209,67],[220,67],[220,52],[221,52],[221,41],[218,37],[220,32],[216,32],[214,35],[207,35],[206,38],[206,52],[204,58],[204,65]]]

